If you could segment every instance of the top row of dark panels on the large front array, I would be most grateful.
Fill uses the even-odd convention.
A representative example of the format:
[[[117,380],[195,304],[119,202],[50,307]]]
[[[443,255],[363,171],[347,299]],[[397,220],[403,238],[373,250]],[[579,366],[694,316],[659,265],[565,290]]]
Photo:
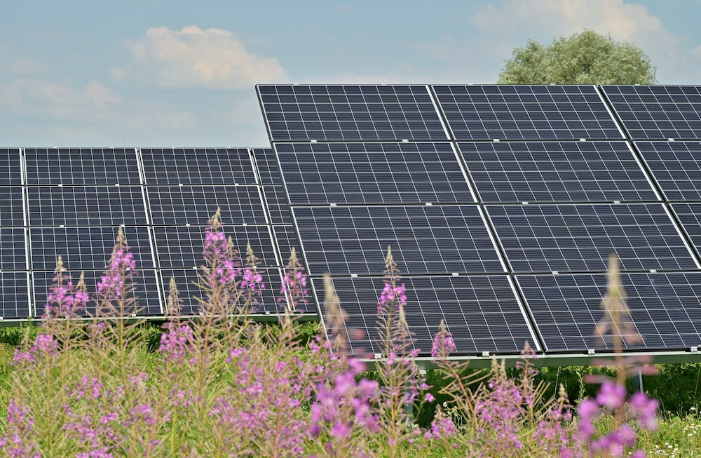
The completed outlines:
[[[701,140],[701,86],[257,86],[257,91],[271,142],[622,140],[614,114],[632,140]]]

